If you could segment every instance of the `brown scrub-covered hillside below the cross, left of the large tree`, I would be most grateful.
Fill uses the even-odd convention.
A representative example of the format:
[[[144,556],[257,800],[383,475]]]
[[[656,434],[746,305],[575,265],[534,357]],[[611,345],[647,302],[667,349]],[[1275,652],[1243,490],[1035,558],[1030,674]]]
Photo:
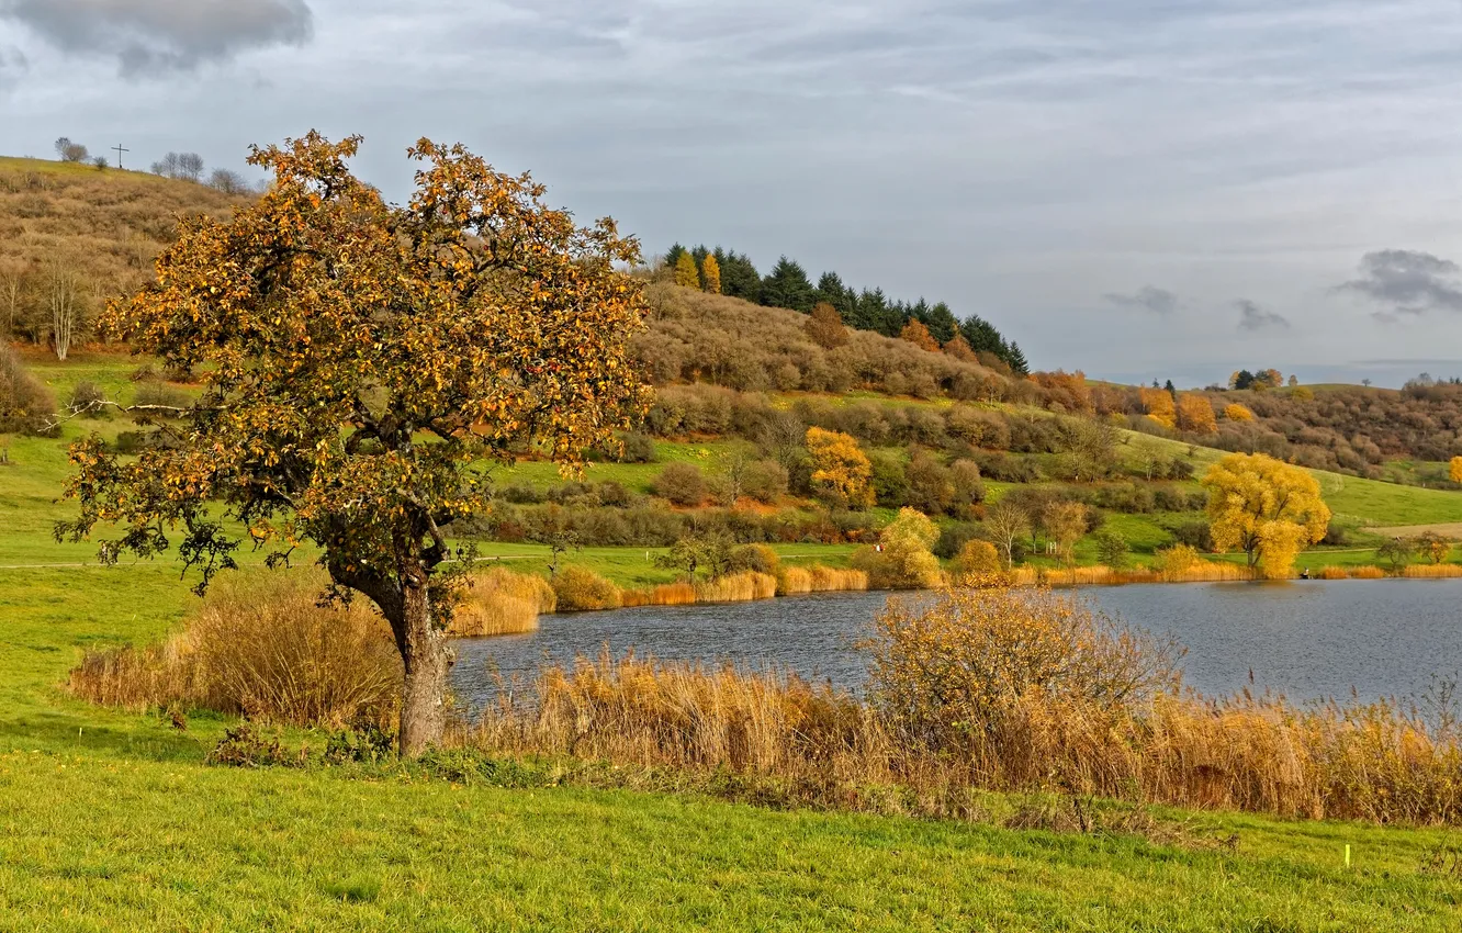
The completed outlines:
[[[0,338],[51,341],[57,295],[85,342],[96,307],[135,288],[177,218],[227,216],[244,197],[140,171],[0,158]]]

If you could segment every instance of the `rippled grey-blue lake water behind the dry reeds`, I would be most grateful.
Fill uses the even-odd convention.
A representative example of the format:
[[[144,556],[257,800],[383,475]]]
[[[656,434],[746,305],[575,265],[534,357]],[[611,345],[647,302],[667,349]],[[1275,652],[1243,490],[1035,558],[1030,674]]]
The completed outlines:
[[[1098,608],[1189,651],[1184,681],[1209,695],[1253,683],[1291,699],[1420,696],[1462,673],[1462,581],[1178,583],[1085,588]],[[826,594],[719,605],[545,616],[538,632],[456,643],[453,686],[471,706],[490,668],[528,679],[545,661],[636,651],[677,661],[779,667],[858,689],[854,642],[887,594]],[[1253,679],[1250,681],[1250,677]]]

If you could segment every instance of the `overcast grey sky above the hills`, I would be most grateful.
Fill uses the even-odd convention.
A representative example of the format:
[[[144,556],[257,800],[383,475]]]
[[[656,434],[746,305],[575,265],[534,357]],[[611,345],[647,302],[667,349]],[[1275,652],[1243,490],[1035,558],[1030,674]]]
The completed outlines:
[[[1462,0],[0,0],[0,154],[462,142],[1118,380],[1462,376]]]

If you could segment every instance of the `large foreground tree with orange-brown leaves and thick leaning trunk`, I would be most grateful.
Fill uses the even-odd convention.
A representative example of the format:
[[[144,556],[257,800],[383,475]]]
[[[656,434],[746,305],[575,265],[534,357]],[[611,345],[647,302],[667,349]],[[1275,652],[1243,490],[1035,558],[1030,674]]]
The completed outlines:
[[[228,222],[180,221],[156,281],[107,310],[135,352],[199,373],[202,393],[164,427],[174,443],[136,459],[76,443],[80,515],[56,534],[120,525],[107,563],[177,535],[199,589],[243,538],[270,566],[317,550],[330,595],[361,594],[390,623],[401,750],[420,755],[446,714],[461,564],[444,529],[487,507],[484,461],[534,445],[572,468],[645,407],[630,352],[643,298],[620,271],[639,244],[425,139],[409,149],[411,200],[389,205],[351,173],[358,146],[311,132],[254,148],[269,192]]]

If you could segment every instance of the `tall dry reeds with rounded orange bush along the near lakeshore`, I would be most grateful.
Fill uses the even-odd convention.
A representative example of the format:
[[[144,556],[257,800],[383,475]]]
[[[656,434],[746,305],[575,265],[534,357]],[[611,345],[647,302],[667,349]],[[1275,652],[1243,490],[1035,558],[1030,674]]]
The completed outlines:
[[[1462,823],[1452,719],[1396,703],[1203,698],[1177,686],[1161,642],[1050,591],[896,604],[867,649],[867,700],[787,674],[580,660],[545,668],[528,695],[504,692],[469,741],[730,772],[825,807],[961,816],[977,790],[1060,791]]]

